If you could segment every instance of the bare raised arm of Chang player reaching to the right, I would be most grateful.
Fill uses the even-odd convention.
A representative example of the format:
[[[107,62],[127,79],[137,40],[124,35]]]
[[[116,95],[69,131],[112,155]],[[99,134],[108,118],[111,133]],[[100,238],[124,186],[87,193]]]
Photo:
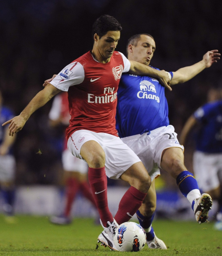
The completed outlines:
[[[181,84],[190,80],[205,68],[211,67],[211,65],[216,63],[218,60],[220,60],[220,53],[218,53],[218,50],[208,51],[204,54],[201,61],[191,66],[182,67],[176,72],[173,72],[173,78],[170,82],[170,85]]]

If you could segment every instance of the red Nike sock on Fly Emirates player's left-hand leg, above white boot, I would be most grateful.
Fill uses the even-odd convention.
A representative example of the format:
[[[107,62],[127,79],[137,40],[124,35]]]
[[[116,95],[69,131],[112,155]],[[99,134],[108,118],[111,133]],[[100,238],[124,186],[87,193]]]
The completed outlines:
[[[89,167],[88,180],[94,201],[100,214],[100,219],[104,227],[106,227],[107,221],[113,222],[113,216],[108,208],[105,166],[102,168]]]

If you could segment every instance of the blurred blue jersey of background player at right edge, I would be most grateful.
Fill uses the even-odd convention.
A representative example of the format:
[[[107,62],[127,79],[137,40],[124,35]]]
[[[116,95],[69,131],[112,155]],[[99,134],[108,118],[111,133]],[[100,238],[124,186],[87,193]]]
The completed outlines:
[[[206,103],[195,111],[201,123],[195,133],[196,149],[206,153],[222,152],[222,100]]]

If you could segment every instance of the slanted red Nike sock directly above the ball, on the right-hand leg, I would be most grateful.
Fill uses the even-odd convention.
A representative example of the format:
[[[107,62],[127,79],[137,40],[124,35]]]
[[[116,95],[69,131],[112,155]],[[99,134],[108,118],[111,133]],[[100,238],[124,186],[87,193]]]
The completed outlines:
[[[130,187],[119,203],[118,211],[114,217],[118,224],[127,222],[140,208],[146,193],[139,191],[134,187]]]

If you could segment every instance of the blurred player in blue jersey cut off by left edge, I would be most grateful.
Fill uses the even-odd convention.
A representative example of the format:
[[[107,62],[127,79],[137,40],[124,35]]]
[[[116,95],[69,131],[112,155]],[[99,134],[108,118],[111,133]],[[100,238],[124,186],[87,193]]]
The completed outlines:
[[[4,123],[13,117],[13,113],[2,104],[3,97],[0,91],[0,122]],[[0,126],[0,191],[4,201],[5,220],[8,222],[14,222],[15,157],[11,148],[14,141],[15,137],[8,135],[8,127]]]

